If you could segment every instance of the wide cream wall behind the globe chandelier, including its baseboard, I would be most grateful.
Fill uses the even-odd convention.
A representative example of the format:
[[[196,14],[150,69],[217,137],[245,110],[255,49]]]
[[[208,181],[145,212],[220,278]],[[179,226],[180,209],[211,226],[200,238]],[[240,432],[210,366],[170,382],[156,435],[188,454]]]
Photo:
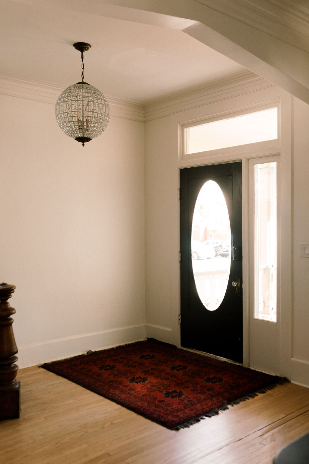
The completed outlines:
[[[0,96],[1,281],[19,367],[145,337],[144,124],[85,147],[49,103]]]

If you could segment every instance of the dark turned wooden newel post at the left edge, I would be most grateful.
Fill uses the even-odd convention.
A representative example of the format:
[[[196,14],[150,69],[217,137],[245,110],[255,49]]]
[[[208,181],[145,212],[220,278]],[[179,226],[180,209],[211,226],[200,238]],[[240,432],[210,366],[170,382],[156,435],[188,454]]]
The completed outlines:
[[[15,285],[0,284],[0,420],[19,418],[20,384],[16,380],[18,352],[13,334],[12,314],[15,309],[7,302]]]

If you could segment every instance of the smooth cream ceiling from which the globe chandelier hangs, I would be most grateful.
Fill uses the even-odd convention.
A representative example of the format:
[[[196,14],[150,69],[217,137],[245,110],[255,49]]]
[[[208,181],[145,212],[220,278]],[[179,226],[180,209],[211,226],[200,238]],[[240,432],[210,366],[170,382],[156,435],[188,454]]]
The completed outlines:
[[[115,18],[98,0],[0,0],[0,7],[1,73],[7,76],[75,84],[81,56],[72,45],[79,41],[92,45],[84,55],[85,81],[106,96],[141,104],[246,71],[179,30],[186,20],[166,17],[162,26],[153,16],[145,24],[143,12],[138,22],[137,10],[132,20],[120,6]]]

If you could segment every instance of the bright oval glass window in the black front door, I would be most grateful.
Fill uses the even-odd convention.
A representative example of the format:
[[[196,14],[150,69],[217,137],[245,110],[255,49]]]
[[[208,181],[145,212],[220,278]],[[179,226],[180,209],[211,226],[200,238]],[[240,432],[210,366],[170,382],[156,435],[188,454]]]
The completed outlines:
[[[208,180],[194,207],[191,257],[198,296],[209,311],[221,305],[231,268],[231,226],[220,186]]]

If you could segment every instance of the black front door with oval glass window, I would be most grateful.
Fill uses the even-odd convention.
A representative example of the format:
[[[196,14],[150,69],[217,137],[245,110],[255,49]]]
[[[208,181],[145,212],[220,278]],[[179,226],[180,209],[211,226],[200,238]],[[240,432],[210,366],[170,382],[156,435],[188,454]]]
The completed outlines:
[[[181,345],[238,362],[242,362],[243,352],[241,178],[241,162],[180,170]],[[212,204],[208,208],[207,196],[204,208],[206,204],[206,208],[217,216],[215,220],[204,219],[201,216],[205,230],[202,235],[199,231],[200,241],[195,240],[196,237],[192,235],[196,234],[196,227],[192,227],[195,204],[198,204],[196,200],[202,187],[209,180],[216,183],[216,188],[220,187],[219,190],[226,202],[225,208],[230,223],[230,238],[226,243],[224,234],[212,230],[215,228],[214,223],[220,222],[222,206],[216,208],[216,205]],[[209,195],[209,202],[213,201],[214,198]],[[229,240],[231,242],[227,243]],[[219,248],[215,246],[217,244],[220,245]],[[215,249],[215,256],[207,255],[209,246]],[[203,251],[200,252],[200,248],[203,248]],[[200,270],[196,273],[197,264]],[[209,310],[210,296],[205,296],[204,293],[213,295],[214,291],[217,291],[216,285],[220,285],[219,274],[222,273],[220,269],[226,264],[229,269],[229,273],[225,271],[226,292],[222,295],[222,301],[221,298],[217,298],[219,306]],[[214,274],[209,270],[202,271],[210,269],[211,265],[217,270]],[[199,281],[196,283],[197,275]],[[205,289],[201,290],[201,286]],[[201,292],[204,292],[203,296]]]

